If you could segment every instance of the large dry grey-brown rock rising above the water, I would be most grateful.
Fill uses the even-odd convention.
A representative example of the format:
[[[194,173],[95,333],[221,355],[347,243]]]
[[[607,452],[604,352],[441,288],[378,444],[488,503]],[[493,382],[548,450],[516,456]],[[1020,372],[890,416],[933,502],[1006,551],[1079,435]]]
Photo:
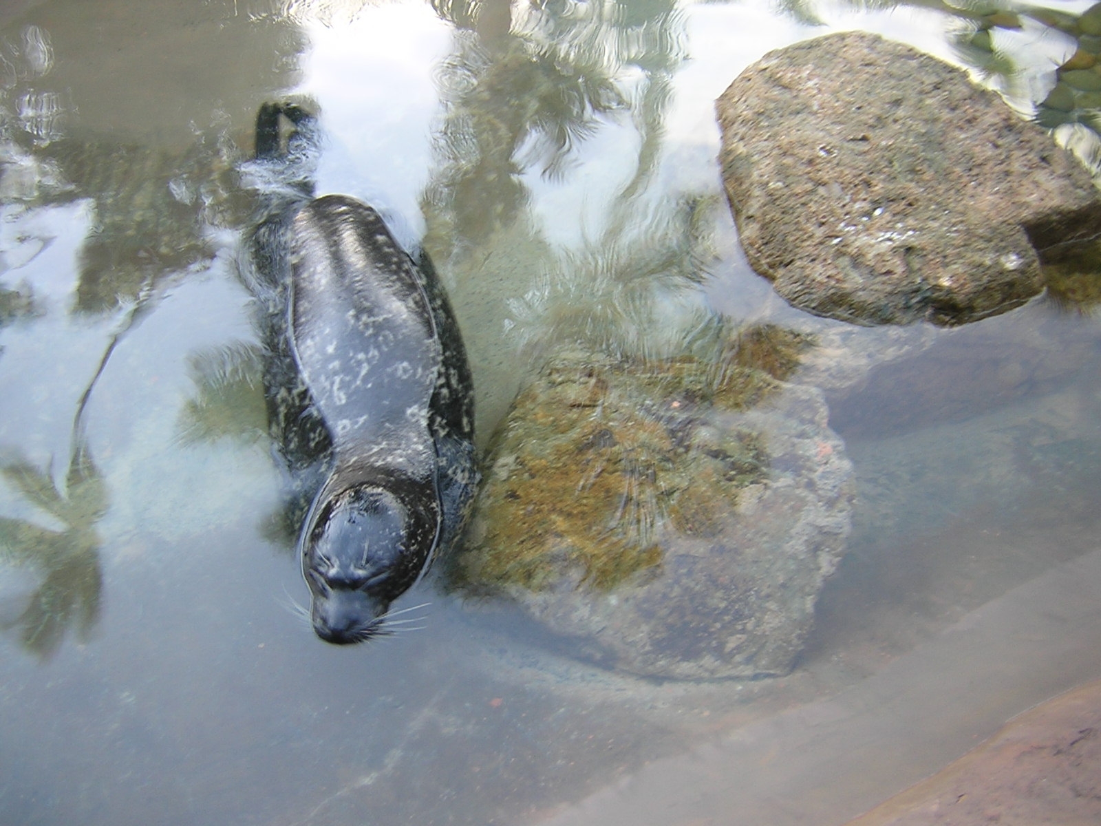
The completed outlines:
[[[879,35],[772,52],[717,110],[750,263],[817,315],[1001,313],[1042,290],[1036,250],[1101,231],[1069,153],[959,69]]]

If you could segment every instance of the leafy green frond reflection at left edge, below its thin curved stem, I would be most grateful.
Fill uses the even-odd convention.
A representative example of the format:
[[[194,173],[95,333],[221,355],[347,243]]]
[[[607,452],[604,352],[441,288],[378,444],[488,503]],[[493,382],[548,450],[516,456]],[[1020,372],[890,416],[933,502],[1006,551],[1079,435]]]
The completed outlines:
[[[102,575],[96,523],[107,512],[107,486],[83,438],[74,447],[64,493],[47,470],[23,460],[3,463],[0,474],[29,503],[65,525],[52,531],[0,518],[0,561],[43,577],[26,608],[6,627],[19,629],[28,651],[50,656],[68,628],[87,635],[99,618]]]

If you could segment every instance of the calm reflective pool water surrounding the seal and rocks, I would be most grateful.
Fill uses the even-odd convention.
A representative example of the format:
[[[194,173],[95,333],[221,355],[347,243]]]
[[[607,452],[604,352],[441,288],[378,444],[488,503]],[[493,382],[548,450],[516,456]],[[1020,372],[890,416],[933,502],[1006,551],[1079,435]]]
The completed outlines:
[[[712,101],[765,51],[861,28],[981,63],[973,25],[924,3],[438,7],[0,10],[0,819],[843,823],[1101,676],[1097,318],[1049,298],[953,330],[809,318],[749,270],[719,191]],[[994,40],[1014,70],[974,74],[1022,110],[1072,51],[1028,21]],[[852,387],[807,368],[858,507],[796,672],[603,672],[430,582],[396,606],[430,602],[422,630],[313,638],[237,278],[235,167],[286,95],[323,112],[319,192],[436,260],[483,443],[579,330],[667,350],[710,309],[883,360]],[[702,284],[601,263],[671,246],[707,253]]]

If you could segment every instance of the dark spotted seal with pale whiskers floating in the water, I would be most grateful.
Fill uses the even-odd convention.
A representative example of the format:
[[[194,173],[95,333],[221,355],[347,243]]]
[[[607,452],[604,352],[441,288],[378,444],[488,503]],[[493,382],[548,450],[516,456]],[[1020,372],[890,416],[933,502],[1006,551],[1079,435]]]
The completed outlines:
[[[286,150],[280,117],[294,124]],[[457,539],[478,482],[473,391],[458,325],[427,257],[370,206],[312,198],[316,146],[299,107],[265,105],[257,162],[282,187],[255,233],[273,350],[273,432],[292,467],[323,466],[297,542],[323,640],[385,630],[390,604]],[[308,165],[308,164],[307,164]]]

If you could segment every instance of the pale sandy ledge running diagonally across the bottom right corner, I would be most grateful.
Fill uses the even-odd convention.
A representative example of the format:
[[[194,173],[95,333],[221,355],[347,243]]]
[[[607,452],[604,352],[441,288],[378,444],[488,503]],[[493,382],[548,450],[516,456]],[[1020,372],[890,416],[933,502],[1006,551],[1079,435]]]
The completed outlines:
[[[1040,817],[1025,802],[1018,805],[1027,786],[1024,778],[1045,776],[1043,768],[1027,768],[1022,785],[992,774],[996,796],[977,802],[959,818],[868,823],[998,823],[982,813],[996,814],[1006,803],[1020,819],[1003,817],[1001,823],[1101,823],[1101,738],[1092,733],[1101,733],[1101,684],[1093,682],[1101,678],[1099,599],[1101,551],[1094,551],[986,602],[851,688],[752,722],[687,754],[653,761],[543,823],[844,824],[973,753],[1021,709],[1060,695],[1067,685],[1083,684],[1095,686],[1087,702],[1092,717],[1068,717],[1051,732],[1024,735],[1023,740],[1017,736],[1017,746],[1007,747],[1012,753],[1034,751],[1037,760],[1055,761],[1044,763],[1051,769],[1046,776],[1053,790],[1073,787],[1082,797],[1092,796],[1080,804],[1092,809],[1075,809],[1083,813],[1078,819]],[[1082,737],[1087,729],[1091,733]],[[994,742],[1005,735],[998,737]],[[1069,756],[1065,760],[1080,760],[1081,774],[1054,773],[1055,765],[1064,764],[1056,760],[1059,749]],[[1090,775],[1090,781],[1071,786],[1072,776]],[[967,789],[958,778],[952,782]],[[1039,806],[1048,800],[1042,783],[1033,789],[1025,801]],[[931,800],[957,805],[967,800],[961,793],[929,792]],[[1073,792],[1050,794],[1069,798]]]

